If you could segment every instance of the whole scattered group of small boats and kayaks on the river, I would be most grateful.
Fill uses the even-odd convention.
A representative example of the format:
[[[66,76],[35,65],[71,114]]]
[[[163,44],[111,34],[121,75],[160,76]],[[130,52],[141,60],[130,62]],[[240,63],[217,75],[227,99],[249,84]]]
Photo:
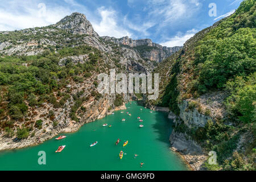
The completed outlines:
[[[142,109],[141,109],[141,110],[142,110]],[[122,111],[121,113],[124,113],[124,112]],[[150,111],[150,113],[152,113],[152,111]],[[113,113],[113,114],[114,114],[114,113]],[[126,114],[131,115],[129,112],[127,112]],[[139,120],[139,122],[143,122],[143,120],[141,119],[141,117],[137,117],[137,119]],[[125,121],[126,121],[126,119],[122,119],[122,122],[125,122]],[[105,126],[108,126],[108,124],[105,123],[105,124],[102,125],[102,126],[105,127]],[[109,125],[109,127],[112,127],[112,125]],[[139,127],[144,127],[144,125],[139,125]],[[66,138],[66,137],[67,137],[67,136],[65,136],[65,135],[61,135],[60,137],[55,138],[55,139],[56,139],[56,140],[61,140],[61,139],[64,139],[64,138]],[[121,139],[118,138],[118,140],[117,140],[117,142],[115,142],[115,144],[118,145],[119,142],[121,142]],[[97,141],[96,141],[96,142],[93,142],[92,144],[90,144],[90,147],[96,146],[96,144],[98,144]],[[126,141],[123,143],[123,147],[125,147],[127,144],[128,144],[128,140],[126,140]],[[66,146],[59,146],[55,152],[56,152],[56,153],[57,153],[57,152],[62,152],[65,147],[66,147]],[[119,158],[120,158],[120,159],[123,158],[123,151],[121,151],[121,152],[119,153]]]

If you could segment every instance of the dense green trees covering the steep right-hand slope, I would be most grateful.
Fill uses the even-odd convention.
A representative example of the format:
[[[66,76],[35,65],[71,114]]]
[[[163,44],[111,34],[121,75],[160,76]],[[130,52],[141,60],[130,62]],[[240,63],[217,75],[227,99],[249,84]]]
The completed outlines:
[[[162,77],[162,93],[154,104],[168,106],[178,114],[177,104],[182,100],[199,97],[210,91],[229,90],[233,95],[253,95],[253,82],[251,86],[238,89],[240,93],[234,93],[227,86],[235,77],[244,81],[250,80],[248,77],[255,77],[252,75],[256,71],[255,17],[255,1],[243,1],[236,13],[218,22],[216,27],[208,28],[207,34],[203,33],[204,30],[199,32],[196,40],[189,40],[191,44],[185,44],[183,50],[160,63],[155,72]],[[245,89],[244,92],[242,89]],[[252,98],[249,95],[247,97]],[[255,108],[253,102],[246,103],[250,108]],[[254,109],[250,109],[249,113],[241,109],[234,112],[239,113],[241,121],[253,122],[253,117],[248,118],[251,110]]]

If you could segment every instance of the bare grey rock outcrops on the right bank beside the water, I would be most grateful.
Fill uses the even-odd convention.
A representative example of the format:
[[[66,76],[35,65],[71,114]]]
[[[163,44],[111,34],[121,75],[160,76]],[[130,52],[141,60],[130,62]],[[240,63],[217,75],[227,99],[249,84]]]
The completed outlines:
[[[168,118],[172,119],[175,126],[181,123],[188,130],[205,127],[208,121],[225,118],[224,98],[226,93],[213,92],[200,96],[197,99],[184,100],[179,104],[179,116],[170,112]],[[203,146],[200,146],[189,134],[177,129],[170,136],[172,149],[179,152],[189,165],[195,170],[204,170],[204,162],[208,159]]]

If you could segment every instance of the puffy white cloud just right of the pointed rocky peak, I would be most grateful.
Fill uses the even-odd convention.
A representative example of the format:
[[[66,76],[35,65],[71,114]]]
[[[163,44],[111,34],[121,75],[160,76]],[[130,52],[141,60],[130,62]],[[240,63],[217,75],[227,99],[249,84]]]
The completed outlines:
[[[92,24],[94,30],[100,36],[114,36],[115,38],[132,36],[132,34],[127,31],[126,28],[118,26],[118,13],[115,10],[101,7],[98,9],[98,13],[101,15],[100,22],[92,21]]]

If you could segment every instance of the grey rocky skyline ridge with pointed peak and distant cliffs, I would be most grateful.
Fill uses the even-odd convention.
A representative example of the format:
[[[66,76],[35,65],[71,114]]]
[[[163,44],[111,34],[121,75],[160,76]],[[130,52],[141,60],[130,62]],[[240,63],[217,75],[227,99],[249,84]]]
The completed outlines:
[[[1,37],[11,37],[13,40],[1,39]],[[77,41],[72,40],[72,37]],[[22,42],[26,42],[27,44],[21,45]],[[72,13],[71,15],[65,16],[59,22],[46,27],[0,32],[0,52],[6,53],[7,55],[15,53],[18,53],[19,55],[22,55],[23,53],[34,55],[39,53],[40,46],[68,46],[68,43],[72,42],[74,42],[73,44],[75,44],[75,42],[77,42],[76,44],[85,43],[89,46],[96,47],[101,51],[107,52],[112,51],[110,48],[111,45],[108,46],[110,42],[117,45],[129,46],[126,48],[134,49],[143,59],[156,61],[157,63],[162,62],[168,56],[172,55],[172,53],[179,51],[181,48],[163,47],[153,43],[151,39],[132,40],[128,37],[119,39],[110,38],[109,36],[100,37],[97,32],[94,31],[92,24],[86,19],[86,16],[81,13]],[[35,51],[31,50],[30,52],[27,52],[27,49],[35,49]]]

